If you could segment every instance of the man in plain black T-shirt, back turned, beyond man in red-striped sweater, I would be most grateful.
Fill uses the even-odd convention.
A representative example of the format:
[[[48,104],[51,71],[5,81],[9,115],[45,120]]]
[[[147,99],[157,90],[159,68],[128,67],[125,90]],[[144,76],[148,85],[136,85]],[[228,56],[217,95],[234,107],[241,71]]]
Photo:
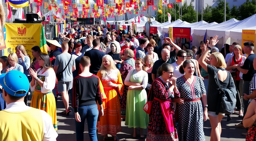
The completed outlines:
[[[101,63],[102,57],[106,55],[104,52],[99,51],[100,42],[99,39],[95,39],[92,41],[93,48],[84,53],[84,56],[90,57],[90,60],[93,60],[93,63],[90,66],[90,73],[97,75]]]

